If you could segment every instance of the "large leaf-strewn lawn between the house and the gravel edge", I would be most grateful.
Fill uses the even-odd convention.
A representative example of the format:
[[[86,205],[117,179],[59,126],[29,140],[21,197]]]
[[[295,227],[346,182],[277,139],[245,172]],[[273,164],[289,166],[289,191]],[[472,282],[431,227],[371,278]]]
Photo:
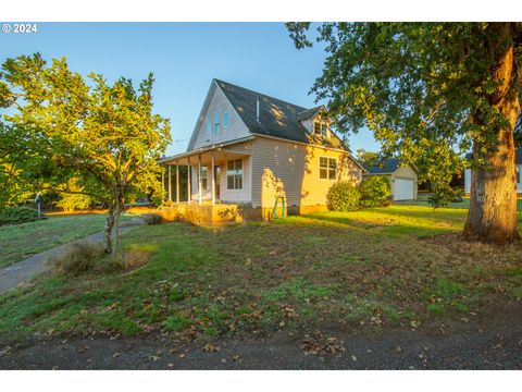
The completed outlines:
[[[141,226],[122,249],[148,255],[147,265],[49,275],[0,296],[0,334],[165,331],[208,340],[418,328],[520,301],[522,246],[461,241],[465,212],[394,205],[213,229]]]

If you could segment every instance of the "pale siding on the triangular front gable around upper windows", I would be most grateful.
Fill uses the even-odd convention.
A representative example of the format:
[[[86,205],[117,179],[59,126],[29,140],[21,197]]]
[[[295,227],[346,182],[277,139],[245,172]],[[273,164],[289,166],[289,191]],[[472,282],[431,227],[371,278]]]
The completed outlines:
[[[214,135],[213,120],[215,112],[220,112],[221,118],[221,133],[219,135]],[[224,112],[228,112],[231,117],[231,124],[226,128],[223,127]],[[212,122],[212,133],[210,135],[206,133],[204,128],[207,120],[211,120]],[[197,149],[199,147],[209,146],[216,143],[229,142],[251,135],[250,131],[239,118],[228,99],[226,99],[220,87],[214,88],[207,111],[201,114],[197,126],[198,134],[195,138],[191,149]]]

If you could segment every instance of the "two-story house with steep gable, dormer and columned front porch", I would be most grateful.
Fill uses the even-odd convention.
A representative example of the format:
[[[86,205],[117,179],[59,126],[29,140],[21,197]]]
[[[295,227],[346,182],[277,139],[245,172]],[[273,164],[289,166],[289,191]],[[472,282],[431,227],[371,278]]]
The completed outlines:
[[[169,200],[207,207],[210,216],[208,206],[263,219],[276,203],[288,212],[324,210],[334,182],[358,184],[364,171],[331,125],[322,106],[307,109],[213,79],[187,151],[160,161],[169,168]],[[183,166],[188,200],[179,199]]]

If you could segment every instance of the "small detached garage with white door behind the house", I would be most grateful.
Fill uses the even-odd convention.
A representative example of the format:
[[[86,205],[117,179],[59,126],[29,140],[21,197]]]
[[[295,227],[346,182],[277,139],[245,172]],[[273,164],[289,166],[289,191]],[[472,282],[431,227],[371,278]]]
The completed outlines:
[[[371,175],[384,175],[389,181],[391,198],[395,201],[417,199],[418,172],[411,164],[399,164],[396,158],[387,159],[378,164],[365,167],[363,179]]]

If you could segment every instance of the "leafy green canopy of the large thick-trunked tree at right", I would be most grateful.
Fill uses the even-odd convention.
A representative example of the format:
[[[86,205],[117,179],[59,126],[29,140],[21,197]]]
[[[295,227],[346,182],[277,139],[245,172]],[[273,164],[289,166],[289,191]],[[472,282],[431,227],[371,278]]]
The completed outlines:
[[[297,48],[312,45],[310,23],[287,28]],[[318,33],[328,56],[312,93],[328,100],[339,130],[368,126],[384,155],[398,154],[440,186],[472,143],[496,148],[508,122],[502,97],[513,85],[521,91],[495,77],[495,59],[514,45],[520,63],[522,23],[324,23]]]

